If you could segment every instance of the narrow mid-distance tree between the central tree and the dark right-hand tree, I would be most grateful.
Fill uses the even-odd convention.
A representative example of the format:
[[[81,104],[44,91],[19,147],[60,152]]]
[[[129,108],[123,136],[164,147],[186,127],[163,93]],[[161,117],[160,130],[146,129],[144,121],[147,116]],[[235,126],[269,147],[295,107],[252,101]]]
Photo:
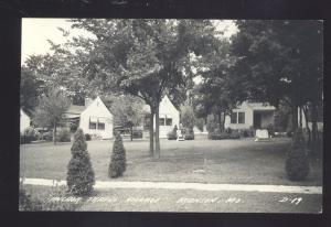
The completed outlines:
[[[214,115],[218,130],[224,130],[225,116],[236,104],[235,90],[231,89],[232,79],[229,68],[233,57],[229,55],[229,43],[225,40],[214,39],[211,42],[213,51],[201,57],[197,73],[202,82],[195,86],[194,107],[197,117],[206,118]]]

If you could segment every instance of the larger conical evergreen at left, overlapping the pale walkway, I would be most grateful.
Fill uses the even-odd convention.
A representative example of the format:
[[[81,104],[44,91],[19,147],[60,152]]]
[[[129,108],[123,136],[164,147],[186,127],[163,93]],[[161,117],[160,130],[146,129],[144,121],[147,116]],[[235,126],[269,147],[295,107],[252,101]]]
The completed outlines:
[[[67,165],[67,186],[74,195],[88,195],[95,183],[94,171],[82,129],[77,129],[72,145],[72,159]]]

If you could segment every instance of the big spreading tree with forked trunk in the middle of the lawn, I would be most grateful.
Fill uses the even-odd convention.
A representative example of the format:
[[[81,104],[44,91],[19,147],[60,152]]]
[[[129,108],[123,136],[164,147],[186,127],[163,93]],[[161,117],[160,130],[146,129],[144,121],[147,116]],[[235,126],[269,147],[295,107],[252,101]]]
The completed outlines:
[[[150,153],[159,158],[159,104],[164,94],[190,82],[189,54],[205,52],[214,26],[206,20],[79,19],[73,23],[96,36],[92,45],[86,45],[93,47],[83,75],[103,82],[105,91],[140,97],[150,107]]]

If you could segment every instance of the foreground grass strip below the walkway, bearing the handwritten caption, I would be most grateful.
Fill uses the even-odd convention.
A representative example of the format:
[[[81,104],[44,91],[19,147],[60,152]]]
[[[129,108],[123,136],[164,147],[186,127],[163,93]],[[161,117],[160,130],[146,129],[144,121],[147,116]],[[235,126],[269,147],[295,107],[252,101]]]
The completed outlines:
[[[322,206],[322,196],[311,194],[109,188],[83,198],[66,194],[64,187],[25,185],[24,188],[32,201],[42,203],[38,210],[319,213]],[[63,201],[57,202],[58,198]],[[284,203],[284,198],[302,201]]]

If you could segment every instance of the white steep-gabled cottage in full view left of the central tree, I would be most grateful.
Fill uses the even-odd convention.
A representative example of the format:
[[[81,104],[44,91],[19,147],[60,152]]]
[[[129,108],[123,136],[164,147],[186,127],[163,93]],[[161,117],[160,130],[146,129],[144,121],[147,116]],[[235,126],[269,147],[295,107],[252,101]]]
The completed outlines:
[[[81,112],[79,128],[84,133],[102,139],[113,138],[113,115],[103,100],[97,97]]]

